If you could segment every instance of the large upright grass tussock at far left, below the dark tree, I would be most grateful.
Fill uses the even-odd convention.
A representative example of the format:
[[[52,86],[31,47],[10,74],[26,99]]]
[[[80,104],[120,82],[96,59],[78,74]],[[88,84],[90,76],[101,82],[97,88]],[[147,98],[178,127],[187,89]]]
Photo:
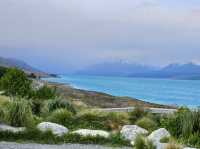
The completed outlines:
[[[30,103],[24,99],[11,101],[5,108],[5,120],[16,127],[32,126],[34,120]]]

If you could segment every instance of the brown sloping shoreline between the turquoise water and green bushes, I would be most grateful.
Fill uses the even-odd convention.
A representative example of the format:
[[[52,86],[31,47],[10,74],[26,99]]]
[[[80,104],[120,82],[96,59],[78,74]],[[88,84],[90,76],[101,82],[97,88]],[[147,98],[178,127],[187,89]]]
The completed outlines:
[[[78,89],[68,83],[58,83],[47,80],[41,81],[45,82],[48,86],[56,88],[58,93],[61,94],[62,97],[66,99],[70,98],[72,101],[83,102],[83,104],[86,104],[89,107],[127,108],[134,106],[143,106],[145,108],[177,109],[177,107],[173,105],[151,103],[132,97],[113,96],[103,92]]]

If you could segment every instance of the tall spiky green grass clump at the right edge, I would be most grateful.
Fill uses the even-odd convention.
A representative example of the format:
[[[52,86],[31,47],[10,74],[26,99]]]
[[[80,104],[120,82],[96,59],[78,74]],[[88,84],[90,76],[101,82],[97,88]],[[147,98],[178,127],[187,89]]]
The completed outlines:
[[[180,108],[177,113],[164,117],[161,123],[183,143],[200,146],[200,109],[190,111],[187,108]]]

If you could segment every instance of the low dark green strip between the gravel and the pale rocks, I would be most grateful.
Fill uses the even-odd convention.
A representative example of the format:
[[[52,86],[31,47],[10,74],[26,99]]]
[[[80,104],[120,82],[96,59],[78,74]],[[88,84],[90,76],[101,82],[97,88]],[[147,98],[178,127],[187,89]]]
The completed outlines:
[[[4,141],[34,141],[45,144],[59,143],[80,143],[80,144],[104,144],[109,146],[130,146],[129,142],[119,136],[119,134],[111,135],[110,138],[103,137],[82,137],[77,134],[69,133],[63,137],[57,137],[49,132],[40,132],[37,129],[29,128],[24,132],[10,133],[0,132],[0,140]]]

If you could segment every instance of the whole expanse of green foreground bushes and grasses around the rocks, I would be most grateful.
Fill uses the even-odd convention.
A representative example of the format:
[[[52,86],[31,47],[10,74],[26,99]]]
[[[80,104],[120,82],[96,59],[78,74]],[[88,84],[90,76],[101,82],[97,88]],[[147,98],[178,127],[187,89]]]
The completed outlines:
[[[27,129],[19,133],[0,132],[0,140],[130,146],[130,142],[120,135],[120,130],[124,125],[135,124],[149,133],[158,128],[166,128],[172,137],[163,138],[162,142],[171,142],[169,149],[177,148],[176,144],[200,148],[200,109],[191,111],[188,108],[180,108],[176,113],[161,115],[149,113],[140,105],[127,113],[102,112],[63,99],[55,86],[43,85],[38,88],[33,85],[33,81],[16,68],[7,69],[2,74],[0,89],[4,94],[0,96],[0,122]],[[61,124],[70,131],[80,128],[105,130],[111,132],[111,136],[83,137],[69,133],[58,137],[52,132],[41,132],[36,128],[36,125],[43,121]],[[155,147],[152,142],[146,141],[144,136],[138,136],[134,148]]]

